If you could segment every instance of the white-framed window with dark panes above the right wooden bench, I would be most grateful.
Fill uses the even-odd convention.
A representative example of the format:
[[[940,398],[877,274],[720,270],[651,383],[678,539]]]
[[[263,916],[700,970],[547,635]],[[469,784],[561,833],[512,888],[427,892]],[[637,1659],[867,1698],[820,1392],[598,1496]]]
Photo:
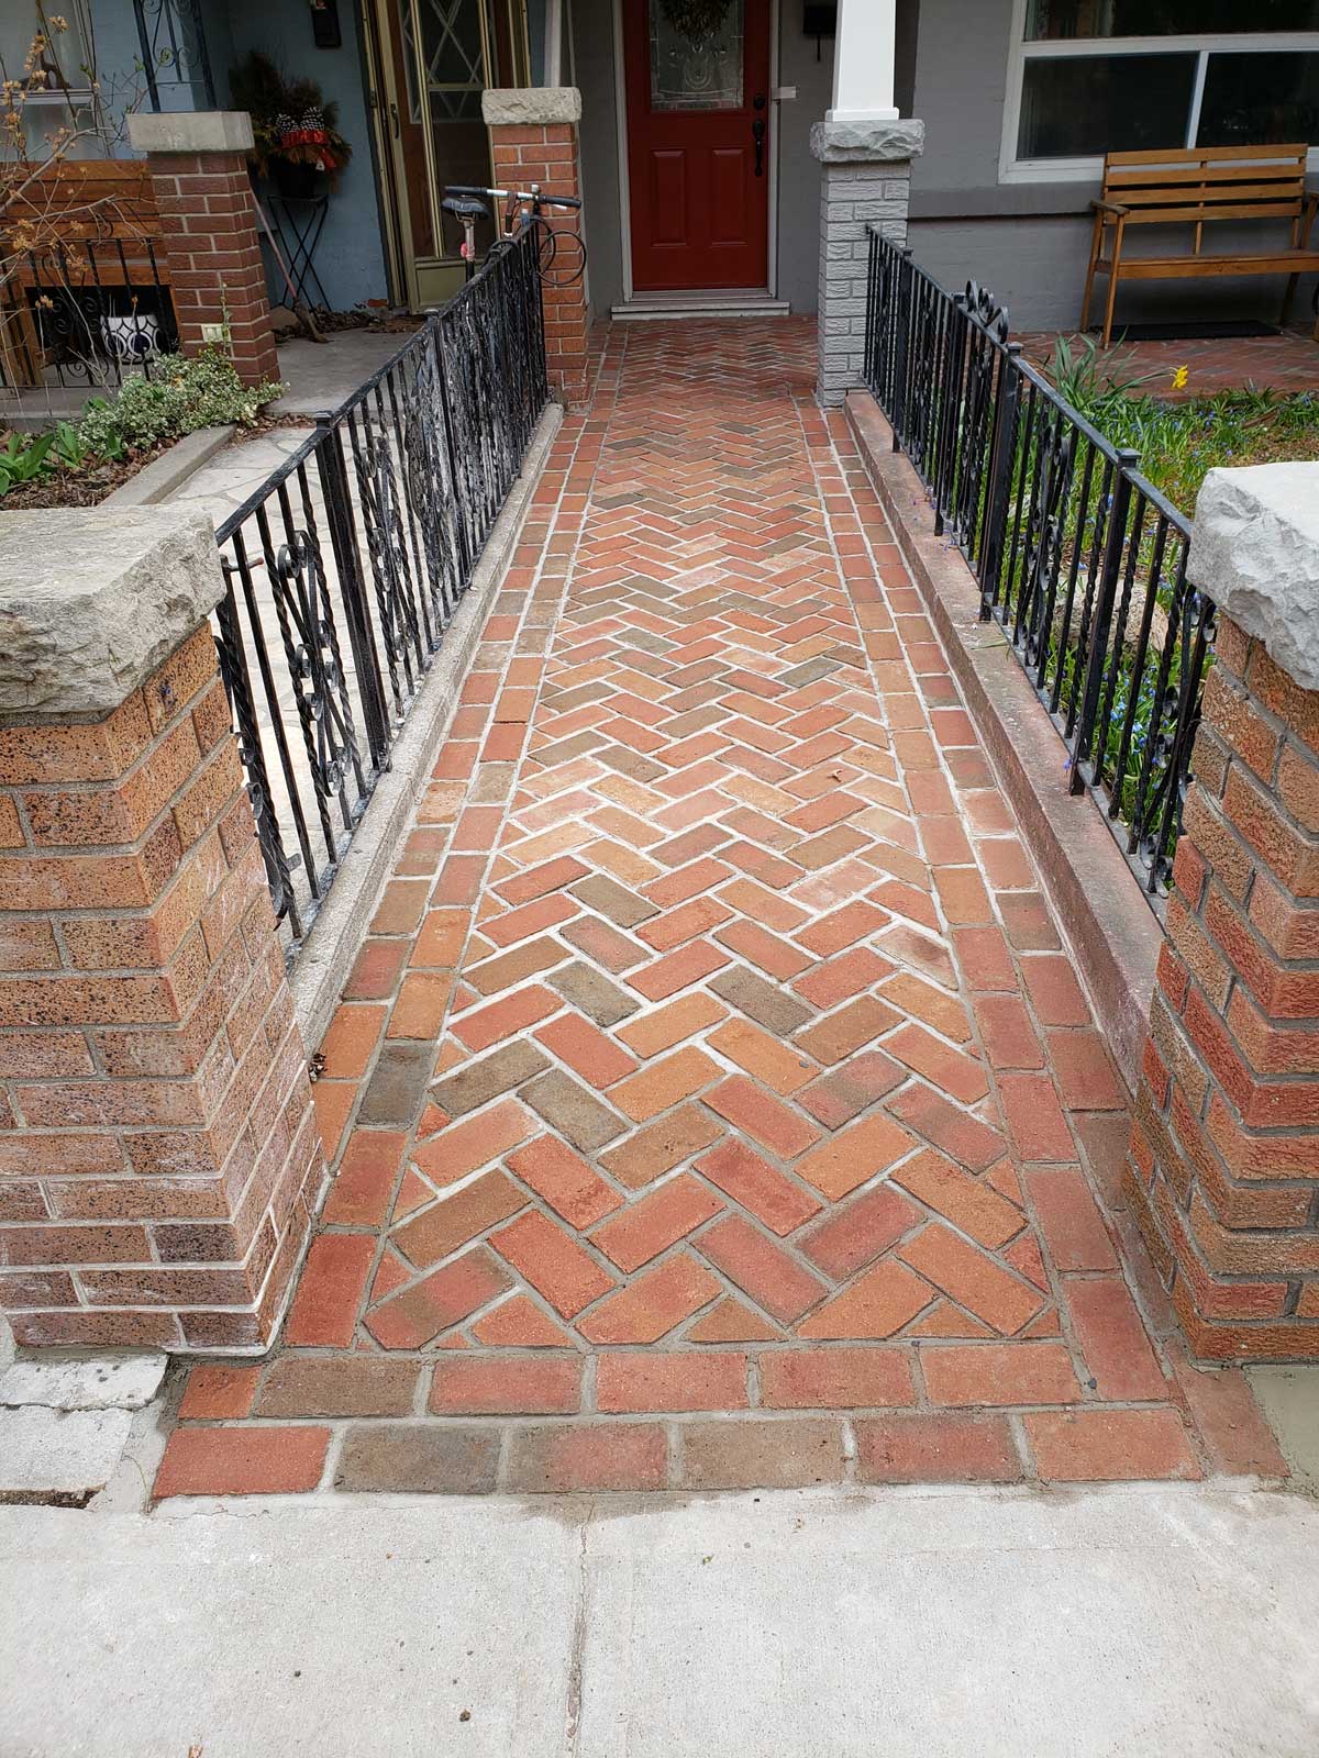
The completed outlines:
[[[1104,153],[1308,141],[1319,0],[1017,0],[1001,176],[1094,178]]]

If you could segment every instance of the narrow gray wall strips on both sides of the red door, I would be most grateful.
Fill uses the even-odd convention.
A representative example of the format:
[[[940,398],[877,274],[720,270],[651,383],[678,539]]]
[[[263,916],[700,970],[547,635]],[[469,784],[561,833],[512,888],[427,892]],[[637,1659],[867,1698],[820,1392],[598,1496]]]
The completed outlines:
[[[623,218],[619,211],[619,146],[612,0],[572,0],[573,83],[582,93],[582,195],[589,250],[589,297],[596,315],[623,299]],[[834,84],[834,44],[802,35],[800,0],[783,0],[779,12],[779,81],[797,86],[797,98],[776,104],[774,144],[779,155],[777,290],[793,311],[816,309],[820,280],[820,165],[811,156],[811,123],[828,109]]]

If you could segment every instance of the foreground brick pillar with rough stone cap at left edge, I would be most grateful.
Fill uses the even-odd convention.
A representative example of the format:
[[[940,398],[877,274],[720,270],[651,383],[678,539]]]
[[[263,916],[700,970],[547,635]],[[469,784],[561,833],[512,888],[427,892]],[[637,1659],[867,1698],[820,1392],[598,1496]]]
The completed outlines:
[[[259,1350],[318,1195],[209,520],[0,520],[0,1308]]]

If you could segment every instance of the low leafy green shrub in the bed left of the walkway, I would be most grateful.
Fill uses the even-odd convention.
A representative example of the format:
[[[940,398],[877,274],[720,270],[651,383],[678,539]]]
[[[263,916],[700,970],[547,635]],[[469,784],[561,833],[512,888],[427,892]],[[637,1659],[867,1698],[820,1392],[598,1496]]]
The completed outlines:
[[[134,373],[113,399],[88,403],[79,441],[97,457],[121,457],[125,450],[178,440],[199,427],[251,427],[281,390],[276,380],[244,385],[222,348],[204,348],[192,360],[165,355],[151,378]]]

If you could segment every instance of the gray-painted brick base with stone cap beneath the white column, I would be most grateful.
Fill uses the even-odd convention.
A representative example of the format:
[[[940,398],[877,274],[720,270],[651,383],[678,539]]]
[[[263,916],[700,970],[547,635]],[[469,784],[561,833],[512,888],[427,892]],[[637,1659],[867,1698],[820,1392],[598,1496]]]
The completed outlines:
[[[906,244],[911,160],[923,149],[925,123],[911,118],[811,127],[821,165],[816,397],[827,408],[865,381],[867,222]]]

